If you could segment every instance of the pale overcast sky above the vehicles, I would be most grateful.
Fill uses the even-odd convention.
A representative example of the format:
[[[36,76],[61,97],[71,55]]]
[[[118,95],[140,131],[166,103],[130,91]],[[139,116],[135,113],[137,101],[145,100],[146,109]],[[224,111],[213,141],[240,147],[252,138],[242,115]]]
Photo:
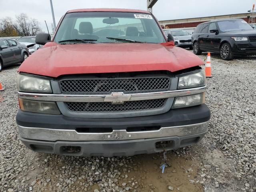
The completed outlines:
[[[146,10],[146,0],[52,0],[56,25],[61,16],[76,8],[132,8]],[[205,16],[245,13],[252,9],[256,0],[158,0],[153,7],[153,14],[158,20],[172,20]],[[0,0],[0,18],[12,18],[20,13],[40,22],[46,30],[52,24],[50,0]]]

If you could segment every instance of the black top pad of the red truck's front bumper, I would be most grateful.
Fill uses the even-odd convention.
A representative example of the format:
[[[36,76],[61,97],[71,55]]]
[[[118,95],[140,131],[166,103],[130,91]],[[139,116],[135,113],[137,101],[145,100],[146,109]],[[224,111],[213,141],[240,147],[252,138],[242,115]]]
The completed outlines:
[[[21,110],[16,115],[16,122],[19,126],[68,130],[76,130],[77,128],[126,130],[132,127],[170,127],[198,124],[209,119],[210,110],[205,104],[172,109],[159,115],[130,118],[70,118],[63,115],[39,114]]]

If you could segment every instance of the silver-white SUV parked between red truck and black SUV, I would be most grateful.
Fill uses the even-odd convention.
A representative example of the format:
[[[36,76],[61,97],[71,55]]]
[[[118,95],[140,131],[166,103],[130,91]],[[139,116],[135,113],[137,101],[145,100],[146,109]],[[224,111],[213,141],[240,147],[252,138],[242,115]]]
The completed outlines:
[[[164,34],[166,38],[168,34],[172,34],[174,37],[174,44],[178,47],[193,49],[191,43],[191,34],[189,34],[186,30],[168,30],[165,31]]]

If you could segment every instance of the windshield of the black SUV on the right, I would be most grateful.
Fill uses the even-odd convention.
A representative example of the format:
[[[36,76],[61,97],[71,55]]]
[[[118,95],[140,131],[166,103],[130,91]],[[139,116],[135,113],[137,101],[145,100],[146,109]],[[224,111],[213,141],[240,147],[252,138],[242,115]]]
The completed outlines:
[[[252,27],[242,19],[218,21],[217,23],[220,28],[220,31],[222,32],[238,31],[238,30],[253,30]]]

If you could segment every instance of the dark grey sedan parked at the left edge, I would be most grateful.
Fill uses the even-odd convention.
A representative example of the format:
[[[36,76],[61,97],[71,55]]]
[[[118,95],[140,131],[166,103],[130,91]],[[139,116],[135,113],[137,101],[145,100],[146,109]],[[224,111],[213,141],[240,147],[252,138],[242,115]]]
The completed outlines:
[[[0,71],[5,66],[23,62],[28,56],[25,45],[10,38],[0,38]]]

